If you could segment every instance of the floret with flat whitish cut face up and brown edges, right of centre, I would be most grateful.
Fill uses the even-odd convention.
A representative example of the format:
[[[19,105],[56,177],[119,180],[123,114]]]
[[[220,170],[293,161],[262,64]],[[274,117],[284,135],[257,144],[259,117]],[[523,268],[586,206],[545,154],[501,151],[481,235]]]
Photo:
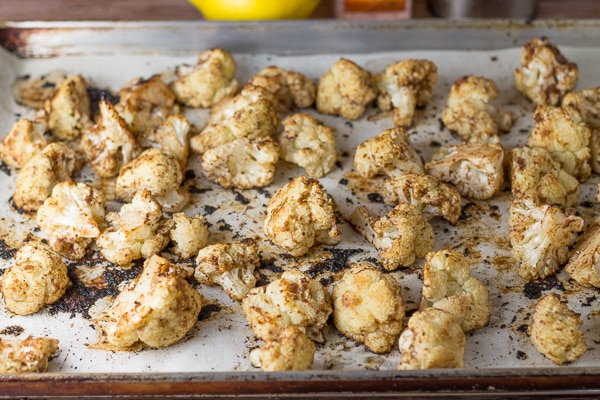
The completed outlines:
[[[504,149],[495,144],[443,146],[425,164],[427,172],[453,184],[463,197],[490,199],[504,185]]]

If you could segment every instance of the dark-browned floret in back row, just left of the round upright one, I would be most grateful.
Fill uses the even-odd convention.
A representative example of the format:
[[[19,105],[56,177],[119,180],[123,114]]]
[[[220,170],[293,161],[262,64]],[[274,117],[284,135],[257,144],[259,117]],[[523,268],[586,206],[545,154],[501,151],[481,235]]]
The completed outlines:
[[[248,81],[273,93],[279,100],[281,112],[289,112],[294,107],[307,108],[315,102],[317,88],[313,81],[299,72],[270,66],[264,68]]]

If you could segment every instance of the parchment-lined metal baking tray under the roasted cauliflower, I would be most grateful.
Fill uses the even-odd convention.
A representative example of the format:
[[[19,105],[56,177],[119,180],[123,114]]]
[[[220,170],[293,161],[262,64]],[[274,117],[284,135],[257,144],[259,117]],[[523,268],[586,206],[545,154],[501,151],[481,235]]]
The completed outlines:
[[[512,71],[518,65],[520,46],[532,37],[546,36],[580,65],[579,88],[600,83],[598,43],[600,21],[301,21],[270,23],[214,22],[3,22],[0,23],[0,131],[8,132],[18,115],[28,110],[14,103],[10,86],[18,76],[55,69],[81,73],[98,89],[118,89],[138,76],[194,63],[199,51],[219,46],[231,51],[238,63],[241,82],[260,68],[276,64],[303,72],[313,79],[338,58],[346,57],[377,72],[387,64],[409,57],[429,58],[438,65],[440,79],[432,103],[417,114],[411,139],[428,159],[440,144],[456,142],[440,123],[444,100],[452,82],[473,73],[493,79],[500,96],[497,103],[517,116],[506,147],[523,144],[531,128],[533,108],[516,93]],[[467,61],[468,60],[468,61]],[[376,116],[376,110],[369,110]],[[190,111],[201,125],[202,111]],[[358,204],[374,213],[386,207],[364,185],[348,184],[355,146],[391,127],[389,117],[364,118],[347,123],[341,118],[319,116],[336,129],[339,168],[321,179],[326,190],[347,217]],[[193,168],[193,167],[190,167]],[[279,167],[278,167],[279,168]],[[259,237],[249,221],[260,221],[266,194],[299,170],[278,169],[272,187],[262,191],[219,191],[201,181],[204,193],[193,207],[211,222],[211,242],[234,236]],[[90,178],[91,179],[91,178]],[[8,206],[14,175],[0,172],[0,239],[4,249],[16,247],[33,226]],[[343,181],[343,183],[342,183]],[[582,187],[578,212],[590,217],[600,211],[591,200],[598,177]],[[204,190],[204,189],[212,190]],[[212,196],[212,197],[211,197]],[[509,193],[490,202],[465,202],[456,227],[434,222],[436,248],[452,247],[468,254],[473,274],[490,290],[494,307],[490,326],[467,335],[465,368],[460,370],[396,371],[397,348],[391,354],[368,353],[361,345],[327,332],[328,342],[318,348],[315,369],[304,372],[266,373],[253,369],[247,353],[256,343],[239,306],[228,301],[219,288],[201,288],[213,307],[183,343],[164,350],[123,354],[94,352],[86,344],[95,332],[78,310],[48,307],[41,315],[11,316],[0,310],[0,331],[19,326],[23,335],[46,335],[61,340],[61,350],[49,372],[1,375],[2,397],[547,397],[600,395],[600,334],[596,290],[583,290],[559,273],[543,282],[527,283],[515,273],[508,248],[507,205]],[[227,205],[227,206],[224,206]],[[232,210],[235,212],[232,213]],[[345,240],[338,247],[315,252],[314,259],[297,262],[300,268],[332,261],[342,263],[373,259],[376,253],[348,223],[342,223]],[[233,226],[233,228],[231,228]],[[344,252],[346,251],[346,252]],[[10,254],[10,251],[8,251]],[[276,249],[264,244],[263,258],[276,259]],[[6,254],[6,253],[3,253]],[[347,256],[347,258],[346,258]],[[338,260],[339,261],[339,260]],[[288,260],[288,262],[291,262]],[[10,265],[10,257],[0,267]],[[395,272],[409,310],[418,307],[418,267]],[[556,367],[535,351],[524,332],[536,299],[554,291],[581,313],[588,352],[571,365]],[[75,307],[76,308],[76,307]],[[72,336],[72,332],[76,335]],[[64,347],[63,347],[64,346]]]

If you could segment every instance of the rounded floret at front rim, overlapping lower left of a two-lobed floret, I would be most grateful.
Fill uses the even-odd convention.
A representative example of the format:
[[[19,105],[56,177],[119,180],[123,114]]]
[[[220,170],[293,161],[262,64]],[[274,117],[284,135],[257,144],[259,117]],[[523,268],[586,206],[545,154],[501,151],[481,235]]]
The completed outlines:
[[[454,317],[437,308],[415,312],[398,340],[398,369],[463,368],[465,333]]]

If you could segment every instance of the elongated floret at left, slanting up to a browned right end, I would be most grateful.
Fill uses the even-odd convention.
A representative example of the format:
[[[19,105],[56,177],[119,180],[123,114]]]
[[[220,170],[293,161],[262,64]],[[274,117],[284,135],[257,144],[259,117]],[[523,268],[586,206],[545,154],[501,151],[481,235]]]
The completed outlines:
[[[70,179],[79,167],[75,151],[62,142],[50,143],[27,161],[17,176],[15,205],[25,211],[37,210],[54,186]]]

